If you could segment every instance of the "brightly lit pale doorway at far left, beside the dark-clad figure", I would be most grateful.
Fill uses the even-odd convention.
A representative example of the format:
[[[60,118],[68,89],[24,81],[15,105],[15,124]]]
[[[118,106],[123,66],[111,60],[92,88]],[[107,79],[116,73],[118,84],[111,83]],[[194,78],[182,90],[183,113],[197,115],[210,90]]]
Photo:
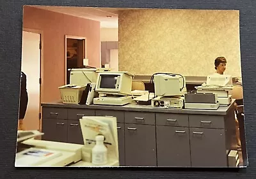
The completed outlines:
[[[28,107],[24,117],[26,130],[41,130],[41,34],[22,31],[21,71],[25,73]]]

